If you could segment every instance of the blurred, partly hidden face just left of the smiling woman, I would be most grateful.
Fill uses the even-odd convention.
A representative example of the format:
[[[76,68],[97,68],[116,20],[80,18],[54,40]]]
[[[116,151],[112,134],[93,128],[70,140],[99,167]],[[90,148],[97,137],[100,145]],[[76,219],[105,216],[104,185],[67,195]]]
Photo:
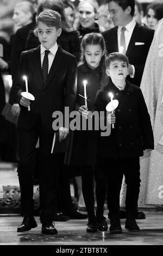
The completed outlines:
[[[65,14],[71,28],[73,28],[75,7],[71,1],[64,0]]]

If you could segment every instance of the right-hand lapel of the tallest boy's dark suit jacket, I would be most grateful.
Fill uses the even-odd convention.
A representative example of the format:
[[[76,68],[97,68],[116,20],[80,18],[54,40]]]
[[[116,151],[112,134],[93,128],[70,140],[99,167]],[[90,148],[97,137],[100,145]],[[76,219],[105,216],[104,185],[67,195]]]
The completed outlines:
[[[61,61],[62,61],[62,59],[61,59],[61,53],[62,53],[62,50],[61,50],[61,48],[58,46],[58,50],[57,50],[57,53],[55,54],[55,57],[54,57],[54,60],[53,60],[51,69],[49,70],[49,74],[48,74],[46,83],[44,84],[44,86],[43,86],[42,89],[44,89],[44,88],[47,86],[47,84],[51,81],[52,77],[54,76],[55,72],[58,70],[59,65],[60,65],[60,63],[61,63]]]

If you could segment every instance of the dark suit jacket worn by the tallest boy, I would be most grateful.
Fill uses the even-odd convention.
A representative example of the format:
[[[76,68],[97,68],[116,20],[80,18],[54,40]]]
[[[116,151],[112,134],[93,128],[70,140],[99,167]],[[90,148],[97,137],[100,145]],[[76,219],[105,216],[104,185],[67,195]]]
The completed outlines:
[[[43,84],[41,69],[40,46],[32,50],[22,52],[20,71],[16,84],[17,103],[21,100],[21,93],[26,91],[23,75],[28,78],[28,90],[35,97],[30,104],[30,111],[27,107],[21,107],[18,117],[17,128],[28,130],[41,116],[43,128],[47,133],[53,133],[52,123],[54,111],[64,111],[69,107],[70,112],[74,110],[76,102],[76,57],[58,47],[46,84]],[[61,125],[62,126],[62,125]]]

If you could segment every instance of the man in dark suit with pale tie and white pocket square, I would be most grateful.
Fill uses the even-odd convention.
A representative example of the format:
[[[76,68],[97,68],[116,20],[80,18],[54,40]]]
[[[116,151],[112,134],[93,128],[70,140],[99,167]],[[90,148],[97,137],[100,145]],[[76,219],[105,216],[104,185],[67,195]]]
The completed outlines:
[[[154,31],[133,19],[135,0],[106,0],[115,27],[103,32],[108,53],[122,52],[129,59],[130,83],[140,86]]]

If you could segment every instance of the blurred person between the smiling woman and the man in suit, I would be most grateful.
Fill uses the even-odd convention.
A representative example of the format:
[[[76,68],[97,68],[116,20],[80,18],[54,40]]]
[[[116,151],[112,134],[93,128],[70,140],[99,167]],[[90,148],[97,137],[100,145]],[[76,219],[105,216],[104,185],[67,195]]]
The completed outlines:
[[[114,23],[110,19],[110,14],[108,11],[108,5],[102,4],[97,11],[98,26],[101,32],[104,32],[110,28],[114,27]]]

